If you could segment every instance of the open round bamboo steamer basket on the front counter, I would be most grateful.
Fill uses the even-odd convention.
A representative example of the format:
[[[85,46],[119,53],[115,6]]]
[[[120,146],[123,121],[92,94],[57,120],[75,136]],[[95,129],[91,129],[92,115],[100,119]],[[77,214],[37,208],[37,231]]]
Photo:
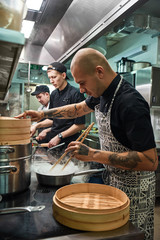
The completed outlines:
[[[129,220],[130,200],[114,187],[78,183],[58,189],[53,196],[53,216],[61,224],[83,231],[107,231]]]

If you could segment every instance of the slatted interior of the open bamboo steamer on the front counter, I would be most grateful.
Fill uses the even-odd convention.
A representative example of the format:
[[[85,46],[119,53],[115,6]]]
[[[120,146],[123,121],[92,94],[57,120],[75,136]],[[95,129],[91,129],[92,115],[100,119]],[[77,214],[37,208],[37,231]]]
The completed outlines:
[[[79,211],[117,211],[128,204],[127,195],[104,184],[79,183],[64,186],[55,194],[57,202],[66,208],[76,207]]]

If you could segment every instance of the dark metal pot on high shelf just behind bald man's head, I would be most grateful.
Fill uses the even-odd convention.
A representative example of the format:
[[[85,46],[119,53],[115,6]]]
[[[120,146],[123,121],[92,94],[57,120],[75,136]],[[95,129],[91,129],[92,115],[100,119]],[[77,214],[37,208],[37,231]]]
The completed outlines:
[[[133,70],[134,63],[135,63],[134,60],[122,57],[121,60],[117,62],[117,72],[118,73],[131,72]]]

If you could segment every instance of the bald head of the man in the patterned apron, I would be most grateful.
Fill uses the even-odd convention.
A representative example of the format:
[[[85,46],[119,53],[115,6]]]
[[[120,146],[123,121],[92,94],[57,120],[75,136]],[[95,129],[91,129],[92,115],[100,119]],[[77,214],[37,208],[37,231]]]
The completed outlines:
[[[74,55],[71,73],[80,92],[93,97],[101,96],[117,75],[103,54],[92,48],[81,49]]]

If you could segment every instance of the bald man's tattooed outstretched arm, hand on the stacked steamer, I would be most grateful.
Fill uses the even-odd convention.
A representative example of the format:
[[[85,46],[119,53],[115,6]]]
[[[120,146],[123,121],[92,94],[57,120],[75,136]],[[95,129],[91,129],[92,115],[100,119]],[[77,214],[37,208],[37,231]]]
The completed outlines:
[[[42,118],[73,119],[86,115],[90,112],[93,112],[93,110],[87,106],[85,101],[83,101],[80,103],[69,104],[63,107],[52,108],[40,112],[28,110],[16,116],[15,118],[26,118],[27,116],[30,116],[32,121],[39,121]]]

